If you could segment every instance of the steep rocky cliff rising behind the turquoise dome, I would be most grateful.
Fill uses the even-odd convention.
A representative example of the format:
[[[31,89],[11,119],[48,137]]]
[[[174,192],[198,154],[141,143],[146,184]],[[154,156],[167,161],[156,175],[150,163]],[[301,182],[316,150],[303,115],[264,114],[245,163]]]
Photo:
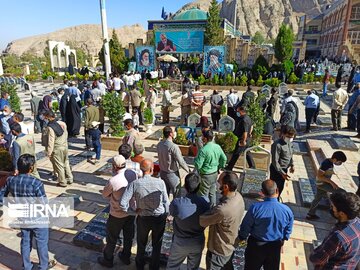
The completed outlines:
[[[268,38],[275,38],[282,23],[289,24],[295,33],[298,19],[303,14],[319,15],[335,0],[223,0],[221,16],[234,22],[237,2],[237,29],[244,35],[253,36],[260,31]],[[177,13],[193,7],[207,11],[211,0],[196,0],[184,5]],[[176,13],[176,14],[177,14]]]

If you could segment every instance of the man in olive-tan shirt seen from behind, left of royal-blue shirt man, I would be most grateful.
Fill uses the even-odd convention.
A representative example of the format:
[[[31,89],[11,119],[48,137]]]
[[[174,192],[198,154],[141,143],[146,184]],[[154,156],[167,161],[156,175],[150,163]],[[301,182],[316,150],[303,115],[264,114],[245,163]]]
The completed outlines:
[[[244,200],[236,191],[239,182],[236,174],[223,172],[218,182],[222,195],[220,203],[200,216],[200,225],[210,226],[206,269],[211,270],[220,270],[232,263],[231,256],[245,211]]]

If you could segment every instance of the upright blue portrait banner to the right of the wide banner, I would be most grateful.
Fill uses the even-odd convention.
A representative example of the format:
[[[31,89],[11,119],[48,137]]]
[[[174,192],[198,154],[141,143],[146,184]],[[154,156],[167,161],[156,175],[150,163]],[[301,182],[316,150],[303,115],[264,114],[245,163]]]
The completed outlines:
[[[224,73],[225,65],[225,46],[205,46],[204,47],[204,73],[214,74]]]

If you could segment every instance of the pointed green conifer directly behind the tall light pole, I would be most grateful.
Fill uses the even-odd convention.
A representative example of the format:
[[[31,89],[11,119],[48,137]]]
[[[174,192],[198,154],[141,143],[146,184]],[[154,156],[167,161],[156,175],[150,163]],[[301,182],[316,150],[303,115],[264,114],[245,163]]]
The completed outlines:
[[[125,56],[125,50],[122,48],[119,38],[113,30],[111,39],[109,41],[109,50],[110,50],[110,61],[112,72],[122,73],[127,69],[129,60]],[[104,48],[101,48],[99,52],[99,59],[103,66],[105,66],[104,58]]]

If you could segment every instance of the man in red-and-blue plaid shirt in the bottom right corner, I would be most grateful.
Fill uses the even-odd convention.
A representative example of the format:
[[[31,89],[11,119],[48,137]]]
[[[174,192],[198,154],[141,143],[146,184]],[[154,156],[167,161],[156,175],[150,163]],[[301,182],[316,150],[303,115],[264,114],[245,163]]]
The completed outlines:
[[[330,214],[338,221],[310,255],[315,269],[358,269],[360,262],[360,199],[350,192],[330,195]]]

